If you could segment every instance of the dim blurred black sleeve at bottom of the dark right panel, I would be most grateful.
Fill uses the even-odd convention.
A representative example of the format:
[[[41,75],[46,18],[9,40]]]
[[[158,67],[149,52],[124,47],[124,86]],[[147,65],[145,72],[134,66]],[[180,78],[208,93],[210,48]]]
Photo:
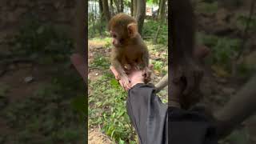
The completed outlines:
[[[168,141],[170,144],[217,144],[216,130],[203,108],[168,109]]]

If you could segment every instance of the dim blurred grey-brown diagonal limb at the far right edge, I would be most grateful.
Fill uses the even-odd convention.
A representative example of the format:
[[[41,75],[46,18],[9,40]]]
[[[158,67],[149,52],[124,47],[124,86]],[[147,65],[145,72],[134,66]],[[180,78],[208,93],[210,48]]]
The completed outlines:
[[[218,121],[218,138],[226,137],[256,110],[256,75],[230,99],[214,117]]]

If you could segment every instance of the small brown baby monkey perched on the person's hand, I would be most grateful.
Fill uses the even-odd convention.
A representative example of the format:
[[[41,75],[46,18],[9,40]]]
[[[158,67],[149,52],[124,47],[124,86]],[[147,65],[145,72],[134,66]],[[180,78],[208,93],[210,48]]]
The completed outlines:
[[[110,35],[114,48],[111,52],[111,65],[118,72],[117,79],[126,89],[130,88],[127,74],[130,70],[143,70],[145,82],[150,81],[149,52],[141,35],[137,22],[128,14],[117,14],[109,22]]]

